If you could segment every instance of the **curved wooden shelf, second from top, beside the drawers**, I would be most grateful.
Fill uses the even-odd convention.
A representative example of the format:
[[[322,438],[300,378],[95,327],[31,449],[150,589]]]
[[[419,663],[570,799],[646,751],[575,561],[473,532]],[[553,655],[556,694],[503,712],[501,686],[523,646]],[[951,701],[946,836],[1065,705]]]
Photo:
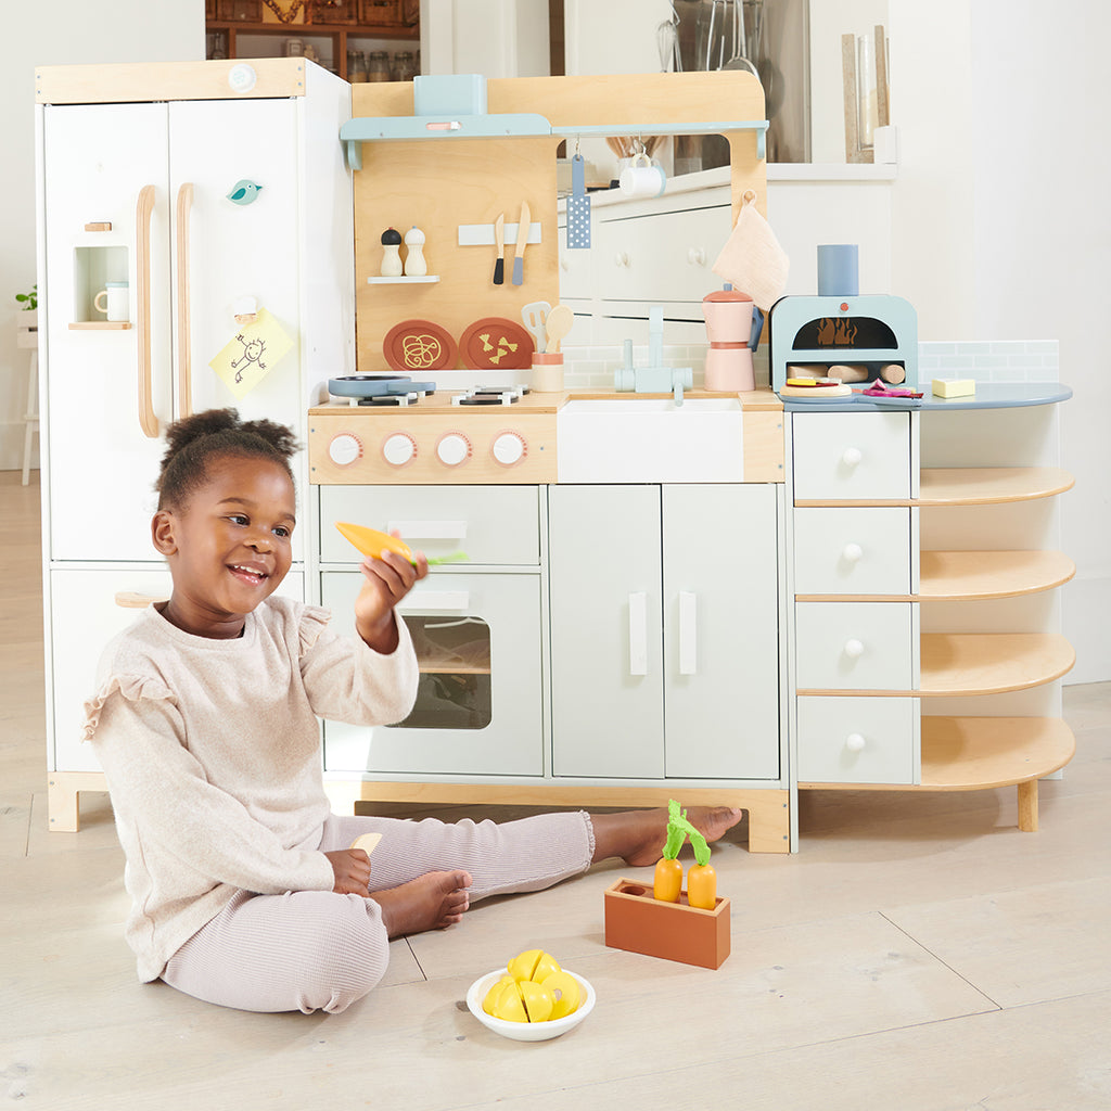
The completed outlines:
[[[1018,598],[1052,590],[1077,573],[1077,564],[1051,551],[924,551],[918,597],[923,602]]]

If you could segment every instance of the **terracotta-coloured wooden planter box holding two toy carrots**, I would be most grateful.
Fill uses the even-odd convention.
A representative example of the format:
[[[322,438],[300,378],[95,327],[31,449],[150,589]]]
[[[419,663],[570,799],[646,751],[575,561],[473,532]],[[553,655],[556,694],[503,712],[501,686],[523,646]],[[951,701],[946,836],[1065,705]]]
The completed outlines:
[[[645,957],[662,957],[683,964],[719,969],[729,957],[729,900],[718,899],[713,910],[687,903],[661,902],[652,885],[618,880],[605,889],[605,944]]]

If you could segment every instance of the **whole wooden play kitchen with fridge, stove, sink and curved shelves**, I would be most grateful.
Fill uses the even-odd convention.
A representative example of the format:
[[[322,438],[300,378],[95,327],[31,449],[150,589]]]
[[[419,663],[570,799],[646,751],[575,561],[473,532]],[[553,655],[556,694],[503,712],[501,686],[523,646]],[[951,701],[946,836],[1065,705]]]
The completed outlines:
[[[414,99],[420,86],[350,88],[301,60],[259,61],[252,73],[232,62],[40,71],[51,828],[76,829],[78,793],[103,789],[79,741],[99,644],[74,630],[107,638],[133,617],[117,595],[167,589],[146,527],[103,528],[88,483],[110,467],[113,487],[142,503],[162,424],[233,403],[203,363],[237,334],[231,307],[247,294],[296,340],[239,402],[307,443],[296,460],[304,524],[283,589],[349,628],[360,557],[336,522],[397,529],[432,557],[466,552],[406,600],[421,661],[410,718],[323,727],[338,811],[681,794],[744,809],[749,848],[787,852],[800,790],[1017,784],[1019,824],[1037,828],[1038,779],[1074,743],[1060,720],[1072,654],[1054,602],[1073,573],[1055,551],[1055,496],[1071,484],[1057,468],[1067,389],[978,386],[914,406],[784,401],[735,383],[681,397],[521,389],[558,367],[541,356],[565,356],[574,339],[559,307],[559,143],[723,131],[734,213],[749,191],[762,208],[754,78],[472,77],[433,83],[430,107]],[[705,119],[725,102],[732,120]],[[143,150],[162,151],[138,172],[133,144],[106,147],[129,133],[123,121],[150,131]],[[314,154],[307,164],[298,134]],[[244,161],[247,137],[261,146]],[[247,164],[267,152],[279,161],[266,174]],[[101,163],[111,172],[93,174]],[[229,199],[251,173],[260,199]],[[279,202],[286,216],[270,222]],[[150,241],[134,231],[150,221],[173,250],[148,272]],[[97,223],[110,230],[87,230]],[[389,229],[400,242],[383,243]],[[190,242],[210,234],[243,249],[193,280],[203,252],[190,256]],[[382,272],[387,247],[400,274],[392,260]],[[420,264],[407,273],[410,251]],[[129,282],[130,319],[111,328],[93,304],[107,280]],[[898,301],[780,302],[772,386],[799,362],[851,362],[818,326],[849,318],[871,337],[862,362],[898,364],[917,382],[917,336]],[[711,339],[742,332],[737,320]],[[88,437],[89,411],[110,413],[102,443]],[[580,441],[582,469],[562,471],[561,429],[594,419],[598,450]],[[729,431],[702,433],[711,428]],[[620,431],[631,450],[638,429],[641,441],[652,429],[639,448],[653,466],[670,466],[677,443],[680,462],[701,459],[725,436],[729,467],[604,472],[601,449]]]

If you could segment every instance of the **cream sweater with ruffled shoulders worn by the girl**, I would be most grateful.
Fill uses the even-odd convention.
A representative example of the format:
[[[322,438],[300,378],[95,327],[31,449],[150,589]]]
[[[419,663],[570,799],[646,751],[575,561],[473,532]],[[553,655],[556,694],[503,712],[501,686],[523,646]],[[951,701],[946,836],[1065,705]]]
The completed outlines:
[[[272,597],[243,635],[182,632],[150,608],[111,641],[86,703],[127,857],[127,939],[139,978],[237,890],[330,891],[317,851],[329,813],[318,718],[400,721],[417,694],[403,621],[390,655],[328,628],[327,610]]]

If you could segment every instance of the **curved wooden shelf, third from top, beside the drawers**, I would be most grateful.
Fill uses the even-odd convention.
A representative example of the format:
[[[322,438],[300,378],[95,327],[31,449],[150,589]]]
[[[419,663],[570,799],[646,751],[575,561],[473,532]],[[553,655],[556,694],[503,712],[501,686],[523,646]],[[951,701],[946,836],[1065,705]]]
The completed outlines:
[[[1060,679],[1077,662],[1060,633],[923,633],[923,698],[1001,694]]]

